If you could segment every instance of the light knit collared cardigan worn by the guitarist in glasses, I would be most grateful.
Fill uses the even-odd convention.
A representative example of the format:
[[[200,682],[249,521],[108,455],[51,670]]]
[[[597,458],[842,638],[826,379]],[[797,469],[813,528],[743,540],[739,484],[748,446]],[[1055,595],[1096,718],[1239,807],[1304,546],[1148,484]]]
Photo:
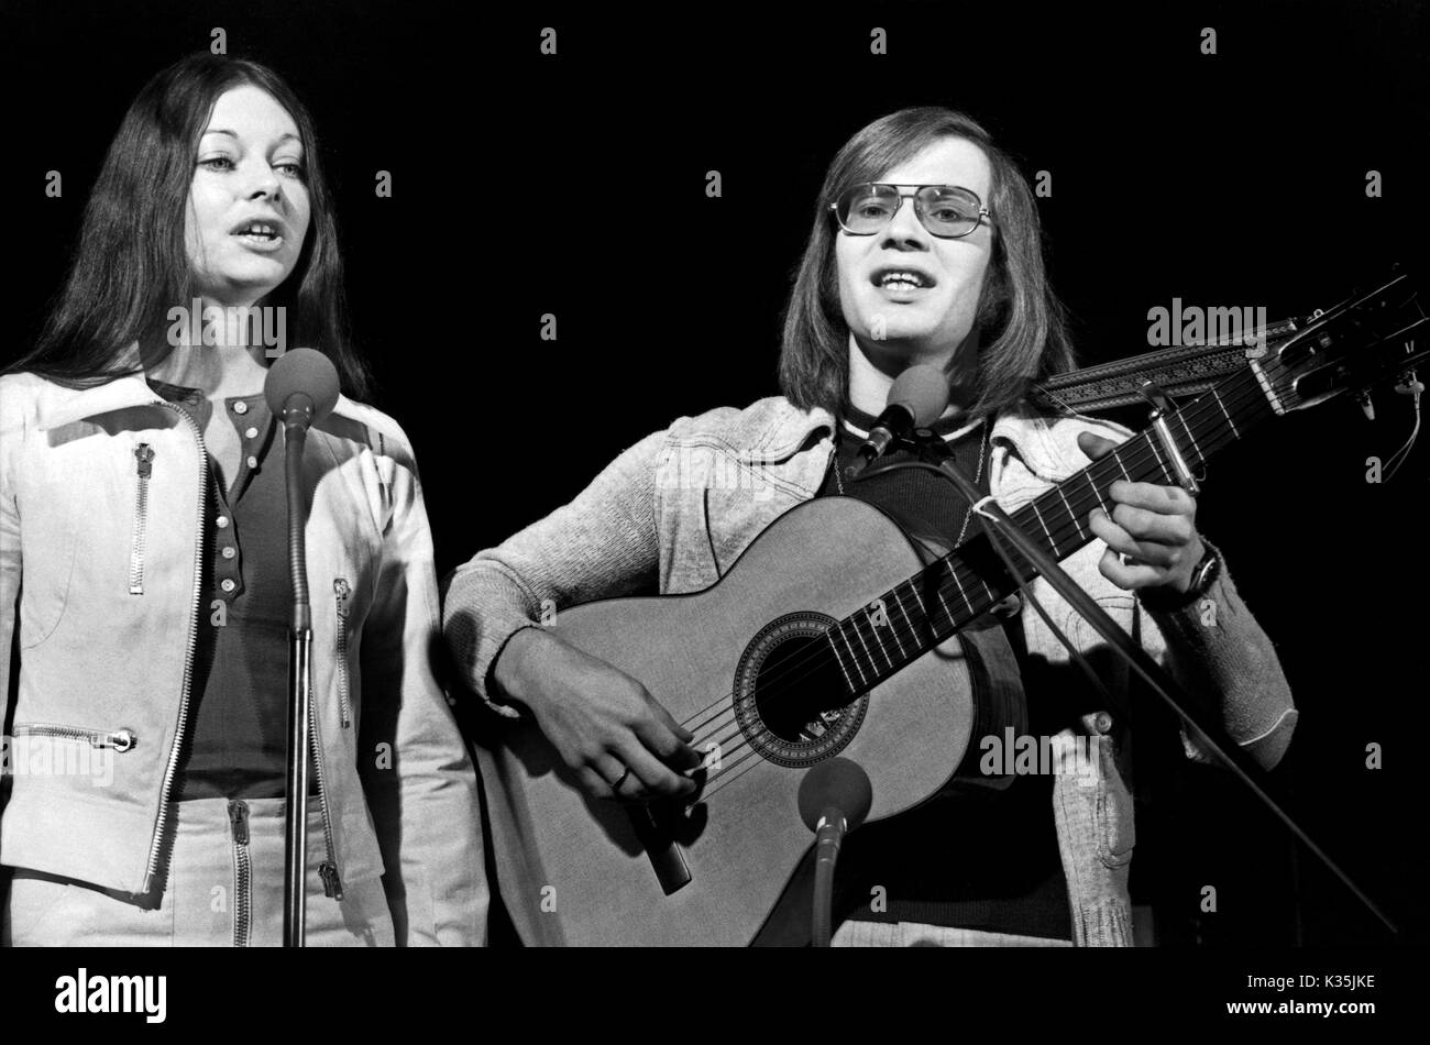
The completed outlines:
[[[1121,442],[1131,432],[1072,415],[1001,415],[990,433],[990,490],[1014,510],[1088,463],[1080,432]],[[448,579],[443,630],[468,685],[498,713],[518,712],[489,690],[489,672],[503,643],[536,623],[543,610],[609,598],[658,583],[662,593],[715,583],[774,519],[818,492],[834,452],[834,417],[801,410],[782,397],[745,410],[721,407],[681,417],[618,456],[575,500],[532,523],[500,546],[479,552]],[[1270,639],[1223,569],[1208,598],[1217,603],[1204,626],[1198,608],[1151,613],[1098,572],[1105,543],[1093,540],[1062,568],[1193,693],[1223,710],[1231,738],[1261,765],[1274,766],[1297,712]],[[1083,652],[1104,645],[1041,578],[1032,595]],[[1210,616],[1210,615],[1208,615]],[[1030,656],[1068,660],[1067,649],[1031,606],[1022,623]],[[1121,659],[1104,660],[1110,692],[1127,689]],[[1068,882],[1074,942],[1130,945],[1127,893],[1133,856],[1133,802],[1123,782],[1110,715],[1083,719],[1098,772],[1070,763],[1054,781],[1052,802]],[[1072,730],[1064,730],[1070,741]],[[1187,755],[1205,761],[1183,735]],[[1072,745],[1055,751],[1071,752]],[[1068,755],[1071,758],[1071,753]]]

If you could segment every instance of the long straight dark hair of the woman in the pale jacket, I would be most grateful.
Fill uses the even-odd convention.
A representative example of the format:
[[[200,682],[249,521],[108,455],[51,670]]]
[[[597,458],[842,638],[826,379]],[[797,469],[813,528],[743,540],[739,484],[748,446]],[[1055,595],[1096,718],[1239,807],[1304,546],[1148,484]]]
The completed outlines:
[[[142,373],[120,356],[139,342],[144,365],[173,352],[162,332],[174,306],[197,297],[184,249],[184,209],[199,139],[226,90],[253,84],[272,94],[297,124],[312,203],[297,264],[265,304],[286,309],[287,340],[323,352],[355,399],[370,392],[368,367],[347,330],[337,223],[307,109],[273,70],[257,61],[199,53],[154,76],[134,99],[84,206],[79,246],[64,286],[26,356],[6,367],[69,387],[90,387]]]

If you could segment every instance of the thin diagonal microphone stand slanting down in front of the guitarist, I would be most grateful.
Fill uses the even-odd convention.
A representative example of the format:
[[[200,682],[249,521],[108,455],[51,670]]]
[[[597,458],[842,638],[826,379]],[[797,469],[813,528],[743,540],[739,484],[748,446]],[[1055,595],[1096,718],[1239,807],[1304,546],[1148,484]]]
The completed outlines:
[[[1357,886],[1350,876],[1336,865],[1336,862],[1310,839],[1310,836],[1301,829],[1301,826],[1291,819],[1291,815],[1281,808],[1281,805],[1271,798],[1267,788],[1263,786],[1266,781],[1266,771],[1261,769],[1256,761],[1247,755],[1241,748],[1227,736],[1221,723],[1213,719],[1213,716],[1191,696],[1184,690],[1171,675],[1168,675],[1163,668],[1153,660],[1145,649],[1140,643],[1133,642],[1131,636],[1124,632],[1107,612],[1097,605],[1097,600],[1091,595],[1084,592],[1072,578],[1070,578],[1061,566],[1050,556],[1042,548],[1038,546],[1035,540],[1028,538],[1017,523],[1002,510],[991,496],[985,497],[972,482],[964,476],[952,462],[952,455],[948,447],[927,447],[919,443],[921,456],[925,462],[932,462],[950,482],[958,487],[960,493],[968,499],[970,505],[974,505],[974,513],[978,516],[980,525],[988,535],[988,542],[994,546],[1001,556],[1007,558],[1004,549],[998,545],[1000,538],[1005,538],[1012,548],[1022,555],[1024,559],[1032,563],[1038,573],[1052,586],[1052,589],[1061,595],[1068,603],[1087,620],[1093,628],[1101,635],[1114,649],[1118,649],[1133,669],[1143,678],[1143,680],[1151,688],[1151,690],[1165,703],[1191,730],[1193,735],[1211,751],[1221,763],[1231,771],[1233,776],[1241,781],[1247,789],[1256,795],[1264,806],[1267,806],[1276,816],[1291,831],[1291,833],[1298,838],[1307,849],[1310,849],[1320,861],[1324,863],[1331,873],[1334,873],[1347,889],[1350,889],[1361,903],[1364,903],[1371,913],[1376,915],[1386,928],[1393,933],[1399,933],[1394,922],[1391,922],[1374,901],[1367,896],[1360,886]],[[997,530],[997,532],[995,532]],[[1010,570],[1014,569],[1014,563],[1005,563]],[[1017,579],[1018,573],[1014,572]]]

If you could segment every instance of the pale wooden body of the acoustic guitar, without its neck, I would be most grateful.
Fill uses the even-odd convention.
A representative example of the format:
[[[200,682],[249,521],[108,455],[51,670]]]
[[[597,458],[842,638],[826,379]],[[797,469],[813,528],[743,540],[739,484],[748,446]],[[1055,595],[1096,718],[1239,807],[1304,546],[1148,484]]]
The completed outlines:
[[[858,762],[874,785],[869,821],[902,812],[948,782],[975,716],[957,638],[842,712],[829,699],[847,700],[847,692],[828,675],[809,679],[808,699],[822,702],[822,716],[789,718],[761,706],[761,680],[797,668],[798,655],[822,642],[821,620],[868,606],[922,566],[881,510],[819,497],[776,519],[704,592],[562,610],[556,633],[639,679],[696,733],[692,746],[708,768],[689,811],[596,801],[529,716],[500,726],[479,746],[478,762],[496,885],[522,939],[746,945],[811,846],[797,806],[809,765],[834,755]],[[764,733],[766,719],[788,742],[756,751],[748,738]],[[798,725],[809,719],[812,729],[801,733]]]

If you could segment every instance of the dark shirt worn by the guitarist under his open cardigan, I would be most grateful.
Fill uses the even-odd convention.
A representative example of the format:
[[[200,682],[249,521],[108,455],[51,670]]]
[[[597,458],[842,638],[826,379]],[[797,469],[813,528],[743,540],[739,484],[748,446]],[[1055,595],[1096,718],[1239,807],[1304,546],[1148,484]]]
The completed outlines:
[[[821,496],[839,493],[842,469],[855,460],[861,432],[868,432],[874,422],[845,407]],[[952,437],[958,427],[962,427],[958,419],[935,423],[932,437],[945,442],[954,463],[972,479],[980,473],[984,426]],[[917,459],[912,450],[898,450],[869,470]],[[988,467],[984,460],[978,480],[984,493],[988,492]],[[841,470],[839,476],[835,469]],[[945,548],[958,543],[968,500],[952,483],[930,472],[899,469],[857,483],[844,479],[842,487],[845,496],[882,507],[914,536],[932,536]],[[964,540],[980,532],[977,519],[971,519]],[[1010,616],[1002,632],[1027,685],[1035,676],[1027,665],[1021,618]],[[968,663],[971,669],[981,669],[971,659]],[[1028,695],[1032,735],[1061,729],[1061,725],[1054,728],[1048,710],[1037,693]],[[981,755],[980,738],[975,725],[965,768],[975,765]],[[967,789],[950,788],[901,816],[861,828],[849,835],[839,856],[841,893],[851,899],[838,913],[861,921],[922,922],[1070,939],[1072,926],[1051,788],[1050,776],[1035,775],[1017,776],[1001,792],[970,795]],[[887,911],[872,909],[871,889],[875,886],[885,891]]]

